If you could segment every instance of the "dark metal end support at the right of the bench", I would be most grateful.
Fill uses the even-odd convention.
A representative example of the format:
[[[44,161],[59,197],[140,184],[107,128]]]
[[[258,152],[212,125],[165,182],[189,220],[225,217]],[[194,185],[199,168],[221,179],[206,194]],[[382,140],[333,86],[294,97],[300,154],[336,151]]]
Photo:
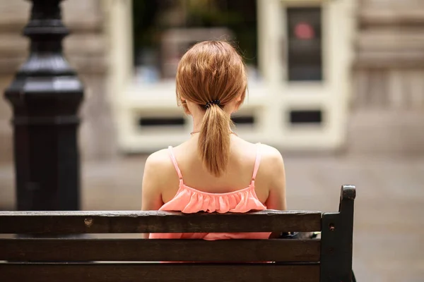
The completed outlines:
[[[353,185],[341,187],[338,213],[322,215],[321,282],[352,281]]]

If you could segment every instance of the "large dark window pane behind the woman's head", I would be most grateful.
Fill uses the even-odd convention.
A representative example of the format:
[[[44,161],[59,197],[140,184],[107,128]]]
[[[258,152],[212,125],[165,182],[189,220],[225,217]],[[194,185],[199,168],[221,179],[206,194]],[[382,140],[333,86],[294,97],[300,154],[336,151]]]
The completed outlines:
[[[182,54],[208,39],[234,42],[259,77],[256,0],[136,0],[132,12],[136,82],[174,80]]]

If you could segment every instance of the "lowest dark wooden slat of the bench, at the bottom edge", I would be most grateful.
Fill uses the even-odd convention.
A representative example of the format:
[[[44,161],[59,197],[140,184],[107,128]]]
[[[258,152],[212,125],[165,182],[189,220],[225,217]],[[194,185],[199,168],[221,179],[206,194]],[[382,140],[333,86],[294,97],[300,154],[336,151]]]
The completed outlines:
[[[319,264],[0,264],[2,282],[318,282]]]

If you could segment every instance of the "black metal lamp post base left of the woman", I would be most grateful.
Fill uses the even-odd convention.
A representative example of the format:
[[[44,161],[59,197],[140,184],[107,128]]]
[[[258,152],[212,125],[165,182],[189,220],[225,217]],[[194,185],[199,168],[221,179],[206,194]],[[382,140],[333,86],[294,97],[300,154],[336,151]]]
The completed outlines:
[[[61,0],[31,0],[30,55],[6,89],[13,106],[18,210],[78,210],[83,85],[62,54]]]

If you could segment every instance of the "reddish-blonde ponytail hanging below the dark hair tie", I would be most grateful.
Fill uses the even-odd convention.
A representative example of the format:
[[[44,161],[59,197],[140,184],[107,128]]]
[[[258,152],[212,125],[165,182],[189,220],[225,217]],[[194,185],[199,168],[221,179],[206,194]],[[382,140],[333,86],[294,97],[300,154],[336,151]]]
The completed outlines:
[[[225,172],[230,154],[230,116],[217,104],[206,109],[199,135],[198,149],[206,169],[214,176]]]

